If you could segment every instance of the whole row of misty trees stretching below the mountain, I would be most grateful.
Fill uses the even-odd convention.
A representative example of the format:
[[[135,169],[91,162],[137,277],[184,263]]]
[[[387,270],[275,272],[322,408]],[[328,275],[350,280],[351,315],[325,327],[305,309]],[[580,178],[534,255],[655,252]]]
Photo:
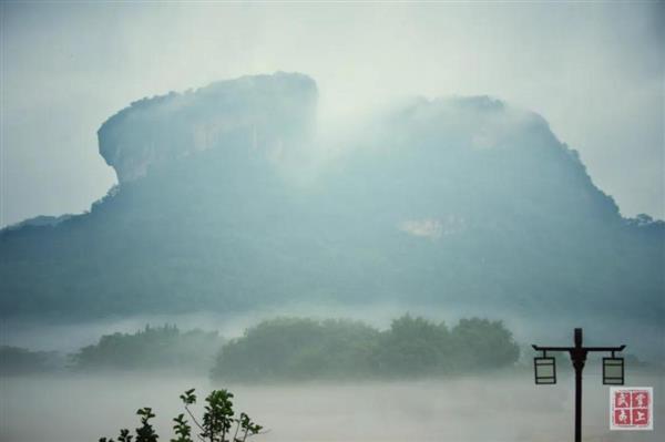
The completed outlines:
[[[49,371],[43,352],[0,348],[0,372]],[[197,371],[214,379],[279,381],[418,378],[513,366],[520,356],[502,321],[461,319],[453,327],[405,315],[379,330],[361,321],[280,317],[225,340],[216,331],[146,326],[104,335],[69,358],[72,371]]]

